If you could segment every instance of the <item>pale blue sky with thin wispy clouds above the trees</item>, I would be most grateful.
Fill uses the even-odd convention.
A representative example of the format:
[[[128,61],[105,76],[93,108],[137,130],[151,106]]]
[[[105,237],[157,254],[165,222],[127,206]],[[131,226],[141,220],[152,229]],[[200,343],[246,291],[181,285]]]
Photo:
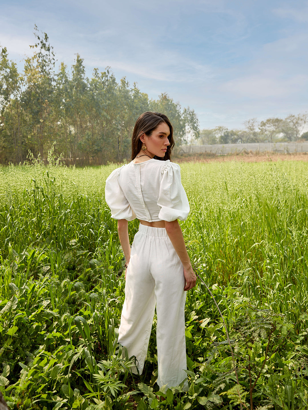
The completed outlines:
[[[20,62],[34,24],[57,64],[110,66],[142,92],[195,109],[200,128],[243,128],[308,109],[308,1],[0,0],[0,45]],[[22,68],[22,65],[20,65]]]

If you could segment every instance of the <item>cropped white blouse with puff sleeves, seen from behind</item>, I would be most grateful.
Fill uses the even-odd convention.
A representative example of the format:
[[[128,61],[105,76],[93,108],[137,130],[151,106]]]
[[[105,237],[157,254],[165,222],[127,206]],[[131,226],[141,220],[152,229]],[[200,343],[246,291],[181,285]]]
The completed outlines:
[[[132,161],[115,169],[106,180],[105,198],[114,219],[185,221],[189,212],[180,167],[170,160]]]

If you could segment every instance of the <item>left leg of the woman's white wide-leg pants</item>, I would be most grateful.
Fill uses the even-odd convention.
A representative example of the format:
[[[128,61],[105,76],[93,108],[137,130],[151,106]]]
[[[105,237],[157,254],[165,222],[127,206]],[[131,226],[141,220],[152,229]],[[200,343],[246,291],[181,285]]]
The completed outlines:
[[[127,348],[129,357],[136,356],[141,374],[151,334],[156,297],[155,282],[149,272],[149,237],[137,232],[127,267],[125,300],[122,309],[118,342]],[[136,369],[132,369],[137,373]]]

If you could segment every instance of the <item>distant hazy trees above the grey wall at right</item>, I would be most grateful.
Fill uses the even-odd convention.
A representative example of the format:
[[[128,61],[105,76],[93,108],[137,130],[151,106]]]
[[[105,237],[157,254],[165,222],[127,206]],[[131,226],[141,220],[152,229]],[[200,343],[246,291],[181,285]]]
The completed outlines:
[[[260,122],[251,118],[244,122],[243,130],[228,130],[222,126],[201,130],[197,141],[201,145],[307,141],[308,132],[303,132],[307,121],[307,113],[290,114],[284,119],[267,118]]]

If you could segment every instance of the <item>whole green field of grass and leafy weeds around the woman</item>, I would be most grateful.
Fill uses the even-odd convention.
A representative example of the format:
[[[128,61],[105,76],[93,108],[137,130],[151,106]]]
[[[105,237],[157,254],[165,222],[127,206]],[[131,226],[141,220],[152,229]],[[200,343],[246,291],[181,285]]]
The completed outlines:
[[[117,345],[117,166],[0,168],[0,390],[17,409],[308,409],[308,163],[184,163],[188,393]],[[129,235],[138,230],[129,223]],[[231,345],[231,346],[230,346]],[[235,370],[234,370],[235,368]],[[157,396],[161,396],[160,400]]]

